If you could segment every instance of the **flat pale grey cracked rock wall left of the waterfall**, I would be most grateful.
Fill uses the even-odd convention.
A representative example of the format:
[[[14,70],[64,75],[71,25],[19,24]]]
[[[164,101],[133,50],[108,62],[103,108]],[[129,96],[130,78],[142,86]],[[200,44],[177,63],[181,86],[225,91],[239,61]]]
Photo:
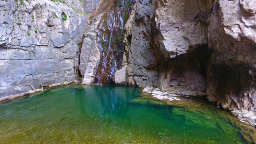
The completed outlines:
[[[75,79],[88,16],[61,2],[8,0],[0,18],[0,97]]]

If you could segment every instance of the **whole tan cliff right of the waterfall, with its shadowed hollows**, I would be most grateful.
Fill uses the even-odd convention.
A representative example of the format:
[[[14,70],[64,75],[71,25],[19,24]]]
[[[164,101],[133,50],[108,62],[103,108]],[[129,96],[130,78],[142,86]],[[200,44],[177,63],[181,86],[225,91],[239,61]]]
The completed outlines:
[[[207,96],[256,125],[255,12],[255,0],[137,0],[118,75],[132,86]]]

